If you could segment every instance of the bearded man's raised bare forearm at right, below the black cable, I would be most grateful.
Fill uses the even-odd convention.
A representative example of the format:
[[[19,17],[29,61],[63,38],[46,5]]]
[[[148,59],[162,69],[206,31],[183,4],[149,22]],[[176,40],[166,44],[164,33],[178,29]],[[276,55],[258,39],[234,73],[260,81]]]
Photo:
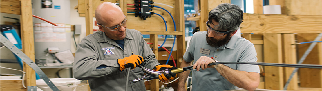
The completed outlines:
[[[254,91],[259,85],[259,73],[233,70],[223,64],[219,64],[216,70],[237,87]]]

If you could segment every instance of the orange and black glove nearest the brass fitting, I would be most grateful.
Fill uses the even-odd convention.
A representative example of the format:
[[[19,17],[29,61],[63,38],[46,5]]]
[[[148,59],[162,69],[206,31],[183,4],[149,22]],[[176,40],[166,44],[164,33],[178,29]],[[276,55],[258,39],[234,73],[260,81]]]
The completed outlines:
[[[153,68],[153,70],[155,71],[161,71],[161,70],[166,70],[166,69],[169,69],[169,70],[174,70],[174,69],[177,69],[177,67],[173,67],[171,65],[156,65],[156,67]],[[159,79],[161,81],[167,81],[169,79],[173,80],[177,77],[177,74],[176,73],[171,73],[171,74],[161,74],[159,75]]]

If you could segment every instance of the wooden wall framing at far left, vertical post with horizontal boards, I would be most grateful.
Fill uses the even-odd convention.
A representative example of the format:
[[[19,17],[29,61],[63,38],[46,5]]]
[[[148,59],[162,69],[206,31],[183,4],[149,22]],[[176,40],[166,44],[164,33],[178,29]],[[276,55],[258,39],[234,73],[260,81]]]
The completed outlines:
[[[31,60],[35,61],[34,55],[34,38],[33,38],[33,14],[31,0],[0,0],[1,12],[20,15],[21,34],[23,52]],[[23,64],[23,70],[26,72],[26,87],[36,86],[36,78],[34,70],[27,64]],[[1,80],[1,89],[3,91],[26,91],[22,87],[21,80]]]

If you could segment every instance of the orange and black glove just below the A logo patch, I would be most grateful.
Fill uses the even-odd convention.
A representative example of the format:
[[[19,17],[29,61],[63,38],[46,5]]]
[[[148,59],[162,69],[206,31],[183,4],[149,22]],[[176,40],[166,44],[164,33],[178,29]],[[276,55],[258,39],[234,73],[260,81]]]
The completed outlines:
[[[143,57],[133,54],[129,57],[125,57],[123,59],[118,59],[118,65],[120,65],[120,71],[131,67],[131,69],[134,69],[135,67],[139,66],[141,63],[143,63]]]

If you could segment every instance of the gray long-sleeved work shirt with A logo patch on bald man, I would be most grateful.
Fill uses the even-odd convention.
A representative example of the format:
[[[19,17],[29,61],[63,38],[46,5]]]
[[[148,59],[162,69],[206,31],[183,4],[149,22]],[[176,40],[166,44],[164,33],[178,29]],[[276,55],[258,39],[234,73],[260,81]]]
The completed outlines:
[[[142,34],[134,29],[126,30],[124,50],[102,31],[84,37],[75,53],[73,74],[76,79],[88,80],[91,91],[125,91],[127,70],[119,71],[117,59],[132,55],[143,57],[142,66],[153,69],[160,63],[143,39]],[[108,67],[96,69],[100,65]],[[144,75],[140,67],[130,71],[128,91],[145,91],[143,80],[132,83],[133,79]]]

